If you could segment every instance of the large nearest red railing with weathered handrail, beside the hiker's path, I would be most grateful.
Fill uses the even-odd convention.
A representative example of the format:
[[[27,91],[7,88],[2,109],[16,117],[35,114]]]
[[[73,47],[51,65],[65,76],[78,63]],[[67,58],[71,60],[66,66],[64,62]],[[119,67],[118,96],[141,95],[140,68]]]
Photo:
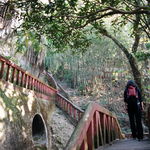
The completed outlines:
[[[114,114],[92,103],[86,109],[65,150],[94,150],[123,138]]]

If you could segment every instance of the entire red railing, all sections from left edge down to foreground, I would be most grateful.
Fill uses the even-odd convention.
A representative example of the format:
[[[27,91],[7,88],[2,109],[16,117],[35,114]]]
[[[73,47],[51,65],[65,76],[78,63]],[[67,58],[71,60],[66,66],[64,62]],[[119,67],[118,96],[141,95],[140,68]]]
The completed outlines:
[[[2,56],[0,64],[1,80],[47,96],[57,92]],[[117,118],[103,107],[90,104],[84,112],[58,93],[55,101],[76,123],[79,122],[66,150],[94,150],[117,138],[123,138]]]

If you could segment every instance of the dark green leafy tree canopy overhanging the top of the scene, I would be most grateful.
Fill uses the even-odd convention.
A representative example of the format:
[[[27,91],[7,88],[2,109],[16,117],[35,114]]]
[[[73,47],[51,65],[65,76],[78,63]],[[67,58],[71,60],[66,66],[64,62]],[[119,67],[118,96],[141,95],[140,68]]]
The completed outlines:
[[[135,14],[129,12],[136,9],[133,7],[135,2],[135,0],[126,2],[121,0],[54,0],[49,4],[43,4],[38,0],[13,1],[16,7],[22,9],[23,29],[33,30],[39,36],[45,35],[47,39],[52,40],[52,44],[59,51],[63,51],[68,46],[71,49],[85,51],[90,44],[86,36],[87,30],[84,30],[86,26],[97,26],[96,28],[101,33],[105,31],[102,29],[106,29],[105,23],[108,20],[116,32],[129,20],[131,24],[134,24]],[[141,6],[147,6],[145,1],[142,2]],[[143,9],[145,12],[140,12],[139,9],[135,13],[143,13],[143,17],[147,18],[149,9],[147,7]],[[143,29],[143,22],[141,29]],[[143,31],[145,30],[147,31],[147,28]]]

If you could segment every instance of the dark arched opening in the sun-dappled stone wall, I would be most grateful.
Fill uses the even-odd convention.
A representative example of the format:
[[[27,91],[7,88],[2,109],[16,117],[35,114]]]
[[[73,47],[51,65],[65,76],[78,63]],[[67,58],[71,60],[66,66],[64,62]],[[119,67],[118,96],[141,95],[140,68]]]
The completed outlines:
[[[47,147],[47,132],[45,123],[39,114],[36,114],[32,122],[32,137],[35,147]]]

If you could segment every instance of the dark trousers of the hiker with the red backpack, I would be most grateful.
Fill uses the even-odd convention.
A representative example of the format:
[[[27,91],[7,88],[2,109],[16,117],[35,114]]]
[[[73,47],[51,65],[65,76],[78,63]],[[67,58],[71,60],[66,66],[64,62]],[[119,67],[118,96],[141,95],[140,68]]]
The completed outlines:
[[[133,138],[143,138],[143,127],[141,121],[141,109],[138,105],[128,105],[128,115]]]

